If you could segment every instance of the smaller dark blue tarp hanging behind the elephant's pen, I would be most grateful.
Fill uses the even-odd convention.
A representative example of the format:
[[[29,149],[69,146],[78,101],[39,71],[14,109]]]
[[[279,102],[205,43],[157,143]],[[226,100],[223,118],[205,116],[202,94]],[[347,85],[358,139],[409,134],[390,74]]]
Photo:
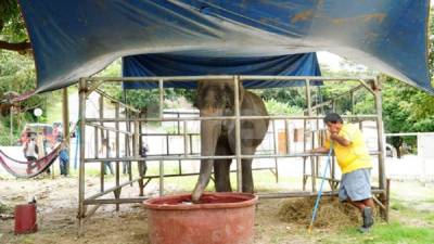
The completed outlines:
[[[194,76],[194,75],[280,75],[320,76],[315,53],[266,57],[201,57],[169,54],[142,54],[123,59],[123,76]],[[245,88],[302,86],[305,81],[244,81]],[[312,85],[320,85],[319,81]],[[196,82],[164,82],[170,88],[196,88]],[[157,82],[125,82],[125,89],[157,88]]]

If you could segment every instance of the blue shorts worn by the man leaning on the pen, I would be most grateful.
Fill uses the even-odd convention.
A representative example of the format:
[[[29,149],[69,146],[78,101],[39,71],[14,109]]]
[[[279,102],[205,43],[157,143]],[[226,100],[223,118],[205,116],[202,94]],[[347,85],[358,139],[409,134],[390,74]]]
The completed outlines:
[[[371,169],[360,168],[342,175],[339,197],[340,200],[361,201],[372,197],[371,195]]]

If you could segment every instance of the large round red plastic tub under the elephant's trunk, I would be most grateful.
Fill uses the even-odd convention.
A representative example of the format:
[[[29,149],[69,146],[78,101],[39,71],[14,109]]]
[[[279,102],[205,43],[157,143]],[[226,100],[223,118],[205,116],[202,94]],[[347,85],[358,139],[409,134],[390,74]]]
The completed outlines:
[[[144,201],[152,244],[253,243],[257,196],[247,193],[204,193]]]

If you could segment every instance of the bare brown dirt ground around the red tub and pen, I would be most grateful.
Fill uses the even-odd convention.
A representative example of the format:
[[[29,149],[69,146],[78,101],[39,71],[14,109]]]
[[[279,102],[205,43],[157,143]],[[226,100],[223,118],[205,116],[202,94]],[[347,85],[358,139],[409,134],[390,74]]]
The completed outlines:
[[[98,180],[89,177],[87,184],[95,184]],[[156,187],[151,185],[150,189],[155,190]],[[0,201],[11,207],[10,214],[13,206],[26,203],[33,195],[37,197],[39,231],[14,235],[14,220],[5,218],[0,220],[0,243],[149,243],[146,211],[140,204],[122,205],[118,213],[111,205],[99,208],[87,220],[84,236],[77,237],[76,178],[0,180]],[[288,200],[259,201],[255,216],[255,244],[320,243],[321,233],[336,228],[319,227],[312,235],[308,235],[308,221],[282,220],[279,211],[284,204]],[[3,214],[3,217],[8,215]]]

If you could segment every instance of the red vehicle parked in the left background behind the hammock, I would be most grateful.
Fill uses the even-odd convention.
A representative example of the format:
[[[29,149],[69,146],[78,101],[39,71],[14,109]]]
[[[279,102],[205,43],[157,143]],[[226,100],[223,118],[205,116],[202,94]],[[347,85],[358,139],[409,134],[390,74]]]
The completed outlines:
[[[51,145],[55,144],[55,141],[59,138],[59,128],[53,128],[50,124],[41,124],[41,123],[31,123],[26,124],[23,131],[21,132],[21,138],[18,143],[23,145],[26,141],[30,140],[31,136],[41,136],[43,140],[50,143]]]

